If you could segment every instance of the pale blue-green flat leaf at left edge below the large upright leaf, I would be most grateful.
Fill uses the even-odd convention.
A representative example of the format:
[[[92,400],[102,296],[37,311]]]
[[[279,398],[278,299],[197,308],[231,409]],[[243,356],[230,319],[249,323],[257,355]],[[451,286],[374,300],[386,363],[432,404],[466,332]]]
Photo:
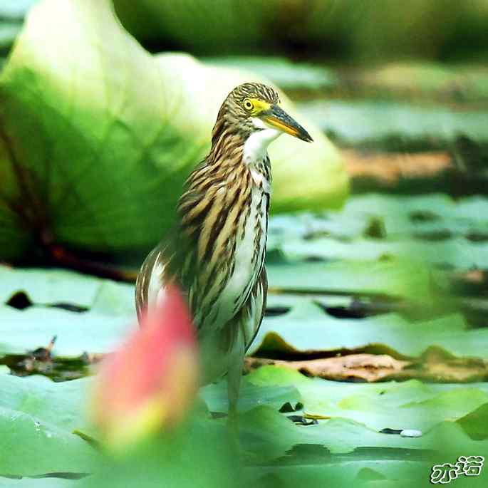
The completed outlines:
[[[19,292],[33,305],[18,310],[5,304]],[[56,355],[107,353],[136,323],[132,285],[73,271],[0,267],[0,302],[0,354],[47,346],[53,336]]]

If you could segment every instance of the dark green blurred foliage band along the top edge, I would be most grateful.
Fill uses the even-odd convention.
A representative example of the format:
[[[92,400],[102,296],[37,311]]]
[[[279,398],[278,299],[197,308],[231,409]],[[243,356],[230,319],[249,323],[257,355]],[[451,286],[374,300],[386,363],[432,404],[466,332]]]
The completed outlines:
[[[130,33],[159,51],[351,64],[483,61],[488,50],[484,0],[116,0],[115,9]]]

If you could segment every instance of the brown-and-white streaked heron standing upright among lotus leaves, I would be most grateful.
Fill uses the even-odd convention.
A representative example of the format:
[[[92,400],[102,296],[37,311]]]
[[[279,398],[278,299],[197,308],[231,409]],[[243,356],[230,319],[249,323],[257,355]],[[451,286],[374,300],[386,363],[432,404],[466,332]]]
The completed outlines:
[[[165,285],[180,286],[197,329],[202,384],[227,373],[229,418],[237,413],[244,354],[266,307],[264,267],[271,194],[270,142],[306,130],[259,83],[234,88],[222,103],[212,148],[185,184],[177,226],[147,256],[136,284],[139,318]]]

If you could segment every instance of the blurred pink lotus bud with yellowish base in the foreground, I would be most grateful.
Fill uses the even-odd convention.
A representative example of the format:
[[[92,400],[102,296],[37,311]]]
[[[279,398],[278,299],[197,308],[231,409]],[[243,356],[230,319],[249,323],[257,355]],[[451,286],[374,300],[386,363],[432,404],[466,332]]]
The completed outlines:
[[[197,341],[180,290],[167,286],[141,325],[95,380],[93,420],[113,447],[176,424],[197,393]]]

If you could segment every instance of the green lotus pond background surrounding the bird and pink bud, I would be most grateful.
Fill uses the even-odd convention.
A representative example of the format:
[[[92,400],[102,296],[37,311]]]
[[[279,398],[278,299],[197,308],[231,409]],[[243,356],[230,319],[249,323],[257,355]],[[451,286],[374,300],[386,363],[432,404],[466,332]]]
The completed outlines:
[[[488,453],[488,1],[0,0],[0,48],[0,262],[37,266],[0,267],[0,487],[160,482],[157,443],[95,469],[71,434],[89,428],[80,377],[134,318],[133,285],[106,278],[133,279],[219,103],[254,79],[316,143],[270,151],[270,294],[239,407],[260,460],[243,484],[430,486],[434,462]],[[51,363],[26,353],[55,334]],[[222,383],[203,398],[225,410]],[[195,422],[182,452],[195,431],[193,453],[219,445],[222,422]],[[164,471],[212,486],[210,463],[234,486],[223,450]]]

